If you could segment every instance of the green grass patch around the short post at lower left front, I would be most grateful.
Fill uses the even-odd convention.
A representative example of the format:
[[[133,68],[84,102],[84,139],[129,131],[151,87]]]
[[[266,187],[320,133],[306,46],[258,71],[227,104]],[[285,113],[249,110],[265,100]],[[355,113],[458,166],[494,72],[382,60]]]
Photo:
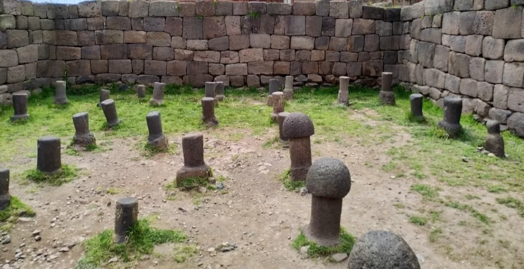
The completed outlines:
[[[86,240],[85,254],[74,268],[99,268],[114,256],[124,263],[140,260],[140,257],[152,254],[156,244],[181,243],[185,239],[187,237],[181,231],[153,228],[147,219],[141,219],[129,231],[125,243],[115,244],[112,230],[105,230]]]

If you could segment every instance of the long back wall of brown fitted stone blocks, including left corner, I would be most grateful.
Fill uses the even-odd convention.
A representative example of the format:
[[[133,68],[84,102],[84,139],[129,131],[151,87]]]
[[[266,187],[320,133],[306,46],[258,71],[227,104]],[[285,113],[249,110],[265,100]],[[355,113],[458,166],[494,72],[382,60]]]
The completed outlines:
[[[63,79],[69,83],[206,81],[258,86],[294,75],[336,83],[383,71],[398,77],[409,49],[400,8],[362,1],[97,1],[78,5],[2,0],[0,99]]]

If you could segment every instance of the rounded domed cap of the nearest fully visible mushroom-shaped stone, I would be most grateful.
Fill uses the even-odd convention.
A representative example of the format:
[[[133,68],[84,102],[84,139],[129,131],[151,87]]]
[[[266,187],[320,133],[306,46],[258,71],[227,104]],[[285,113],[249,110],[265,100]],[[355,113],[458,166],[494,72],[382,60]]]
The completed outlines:
[[[351,189],[350,170],[340,160],[320,158],[309,167],[305,187],[313,196],[344,198]]]

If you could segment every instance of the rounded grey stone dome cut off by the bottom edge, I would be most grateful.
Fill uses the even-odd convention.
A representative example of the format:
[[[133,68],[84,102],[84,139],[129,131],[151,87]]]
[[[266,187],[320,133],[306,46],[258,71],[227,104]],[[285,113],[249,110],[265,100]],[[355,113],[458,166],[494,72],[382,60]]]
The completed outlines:
[[[390,231],[365,233],[353,245],[348,260],[347,269],[420,269],[408,243]]]

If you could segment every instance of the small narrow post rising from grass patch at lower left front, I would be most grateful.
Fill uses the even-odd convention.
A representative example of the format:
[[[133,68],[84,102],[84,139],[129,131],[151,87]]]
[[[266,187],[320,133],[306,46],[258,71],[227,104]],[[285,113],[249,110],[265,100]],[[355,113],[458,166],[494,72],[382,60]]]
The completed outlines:
[[[138,221],[138,201],[135,197],[124,197],[116,201],[115,241],[117,244],[126,241],[127,232]]]

